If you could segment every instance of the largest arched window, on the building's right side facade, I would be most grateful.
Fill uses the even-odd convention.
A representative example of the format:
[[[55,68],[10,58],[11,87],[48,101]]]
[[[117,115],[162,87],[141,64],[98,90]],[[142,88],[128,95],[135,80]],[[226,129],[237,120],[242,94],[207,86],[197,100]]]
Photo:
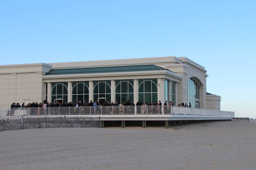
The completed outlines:
[[[187,80],[187,101],[191,103],[191,107],[200,108],[200,88],[199,84],[193,78]]]

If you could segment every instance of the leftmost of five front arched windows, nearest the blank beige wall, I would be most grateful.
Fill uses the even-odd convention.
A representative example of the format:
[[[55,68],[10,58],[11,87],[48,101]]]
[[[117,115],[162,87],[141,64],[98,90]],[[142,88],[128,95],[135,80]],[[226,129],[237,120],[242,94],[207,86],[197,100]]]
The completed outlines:
[[[67,101],[67,82],[51,83],[51,101],[54,99],[62,99],[62,102]]]

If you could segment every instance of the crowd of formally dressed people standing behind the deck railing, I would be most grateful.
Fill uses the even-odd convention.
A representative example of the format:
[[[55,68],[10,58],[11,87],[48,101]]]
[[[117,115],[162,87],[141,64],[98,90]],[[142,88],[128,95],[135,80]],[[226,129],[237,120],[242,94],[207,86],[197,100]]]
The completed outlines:
[[[164,106],[174,106],[174,103],[173,102],[169,102],[169,104],[167,103],[167,101],[165,101],[165,103],[163,104]],[[98,101],[84,101],[83,103],[81,101],[79,102],[45,102],[45,101],[42,101],[42,103],[38,103],[38,102],[32,102],[32,103],[28,103],[28,104],[25,104],[25,103],[22,103],[22,105],[20,105],[19,103],[12,103],[11,104],[11,108],[36,108],[36,107],[42,107],[42,108],[46,108],[46,107],[102,107],[102,106],[135,106],[135,104],[133,103],[133,101],[129,101],[127,100],[126,102],[124,101],[123,103],[113,103],[113,102],[109,102],[109,101],[106,101],[105,103],[98,103]],[[140,101],[138,101],[136,103],[136,106],[162,106],[162,103],[161,101],[159,101],[159,103],[156,101],[152,101],[152,102],[143,102],[141,103]],[[189,107],[191,108],[191,103],[189,103],[189,105],[186,103],[180,103],[177,105],[178,107]]]

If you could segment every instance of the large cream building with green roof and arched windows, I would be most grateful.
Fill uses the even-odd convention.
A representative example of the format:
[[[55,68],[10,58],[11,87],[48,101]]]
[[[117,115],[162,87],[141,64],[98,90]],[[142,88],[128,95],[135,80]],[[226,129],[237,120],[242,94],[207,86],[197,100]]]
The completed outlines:
[[[206,72],[198,63],[174,56],[1,65],[0,107],[43,100],[167,100],[219,110],[221,96],[206,93]]]

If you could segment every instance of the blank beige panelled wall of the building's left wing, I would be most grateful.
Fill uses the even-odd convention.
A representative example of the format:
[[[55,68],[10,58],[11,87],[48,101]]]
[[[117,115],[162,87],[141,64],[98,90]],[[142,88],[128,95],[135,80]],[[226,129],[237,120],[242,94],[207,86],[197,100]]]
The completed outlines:
[[[42,75],[50,67],[42,63],[0,66],[0,108],[8,108],[12,103],[45,100]]]

